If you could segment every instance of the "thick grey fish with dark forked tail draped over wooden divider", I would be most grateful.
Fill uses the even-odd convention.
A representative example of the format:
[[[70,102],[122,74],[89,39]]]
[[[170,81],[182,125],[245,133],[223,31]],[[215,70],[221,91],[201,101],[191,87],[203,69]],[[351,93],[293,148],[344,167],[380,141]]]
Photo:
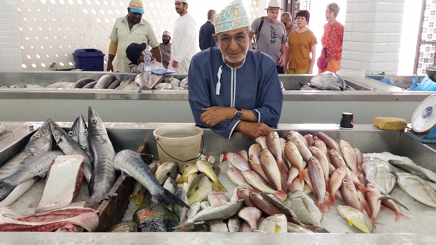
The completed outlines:
[[[127,176],[133,177],[136,181],[141,183],[150,192],[151,201],[150,210],[157,205],[171,205],[179,204],[186,208],[189,206],[185,204],[180,198],[176,197],[167,189],[164,189],[156,177],[154,177],[148,164],[153,160],[153,155],[139,154],[133,150],[122,150],[116,154],[113,166],[116,170],[120,170],[123,178]],[[174,182],[174,180],[173,180]]]

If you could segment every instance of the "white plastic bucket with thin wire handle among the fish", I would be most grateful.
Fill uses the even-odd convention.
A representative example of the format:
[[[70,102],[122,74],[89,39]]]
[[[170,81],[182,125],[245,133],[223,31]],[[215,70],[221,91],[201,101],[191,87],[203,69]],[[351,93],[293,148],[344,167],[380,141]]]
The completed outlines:
[[[185,163],[196,163],[203,133],[199,127],[181,124],[154,129],[160,163],[177,161],[180,167]]]

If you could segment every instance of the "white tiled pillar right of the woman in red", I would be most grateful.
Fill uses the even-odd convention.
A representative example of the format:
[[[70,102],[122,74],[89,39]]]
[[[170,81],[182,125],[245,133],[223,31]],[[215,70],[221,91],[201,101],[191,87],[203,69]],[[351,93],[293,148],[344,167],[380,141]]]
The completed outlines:
[[[396,75],[405,0],[347,0],[341,68]]]

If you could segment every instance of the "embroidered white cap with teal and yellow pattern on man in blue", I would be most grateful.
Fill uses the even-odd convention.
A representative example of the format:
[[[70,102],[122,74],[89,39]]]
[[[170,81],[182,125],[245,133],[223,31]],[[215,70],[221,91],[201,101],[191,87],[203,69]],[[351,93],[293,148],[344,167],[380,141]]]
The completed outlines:
[[[242,0],[234,0],[214,16],[215,33],[249,27],[250,21]]]

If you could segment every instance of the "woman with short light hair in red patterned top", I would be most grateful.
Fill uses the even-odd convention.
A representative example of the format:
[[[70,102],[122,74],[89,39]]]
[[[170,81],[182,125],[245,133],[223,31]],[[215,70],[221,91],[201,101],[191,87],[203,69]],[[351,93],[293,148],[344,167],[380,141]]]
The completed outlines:
[[[339,14],[339,6],[336,3],[330,3],[326,8],[327,24],[324,25],[324,34],[321,38],[323,50],[320,59],[333,58],[328,61],[327,67],[319,69],[319,73],[331,71],[336,73],[341,68],[342,41],[344,40],[344,25],[337,22],[336,17]]]

